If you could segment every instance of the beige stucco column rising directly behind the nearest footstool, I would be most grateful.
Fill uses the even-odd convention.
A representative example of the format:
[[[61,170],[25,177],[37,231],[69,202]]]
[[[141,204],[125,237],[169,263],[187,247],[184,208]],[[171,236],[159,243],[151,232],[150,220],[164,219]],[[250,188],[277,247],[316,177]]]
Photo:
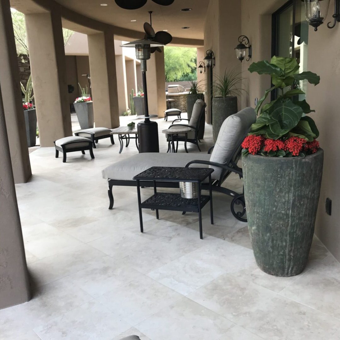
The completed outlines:
[[[72,136],[61,16],[26,14],[26,29],[37,109],[40,146]]]

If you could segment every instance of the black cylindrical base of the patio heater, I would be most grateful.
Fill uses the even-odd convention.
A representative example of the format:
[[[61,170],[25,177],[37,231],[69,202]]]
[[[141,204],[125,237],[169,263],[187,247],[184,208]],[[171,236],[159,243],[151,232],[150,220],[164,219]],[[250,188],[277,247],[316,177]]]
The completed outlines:
[[[139,153],[159,152],[158,124],[146,119],[138,123],[138,147]]]

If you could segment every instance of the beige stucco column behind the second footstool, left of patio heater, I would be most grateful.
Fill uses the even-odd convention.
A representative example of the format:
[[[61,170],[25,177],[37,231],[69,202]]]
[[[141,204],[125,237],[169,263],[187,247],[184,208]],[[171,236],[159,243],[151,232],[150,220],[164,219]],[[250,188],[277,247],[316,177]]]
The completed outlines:
[[[112,32],[87,36],[96,126],[119,126],[118,90],[114,35]]]

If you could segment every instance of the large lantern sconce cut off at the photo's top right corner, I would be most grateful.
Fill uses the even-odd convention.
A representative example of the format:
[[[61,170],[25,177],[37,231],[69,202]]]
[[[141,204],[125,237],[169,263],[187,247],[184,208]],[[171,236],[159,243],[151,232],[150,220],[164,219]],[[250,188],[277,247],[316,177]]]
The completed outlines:
[[[327,17],[330,0],[304,0],[306,7],[306,19],[310,26],[314,27],[314,31],[323,24]],[[334,22],[327,23],[328,28],[334,28],[337,21],[340,22],[340,0],[334,0]]]

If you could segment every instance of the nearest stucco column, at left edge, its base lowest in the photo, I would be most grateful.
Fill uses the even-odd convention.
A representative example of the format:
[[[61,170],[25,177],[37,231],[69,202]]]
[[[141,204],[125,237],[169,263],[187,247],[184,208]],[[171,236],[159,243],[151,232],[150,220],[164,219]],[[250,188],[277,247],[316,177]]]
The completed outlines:
[[[0,88],[0,309],[30,300],[30,286]]]

